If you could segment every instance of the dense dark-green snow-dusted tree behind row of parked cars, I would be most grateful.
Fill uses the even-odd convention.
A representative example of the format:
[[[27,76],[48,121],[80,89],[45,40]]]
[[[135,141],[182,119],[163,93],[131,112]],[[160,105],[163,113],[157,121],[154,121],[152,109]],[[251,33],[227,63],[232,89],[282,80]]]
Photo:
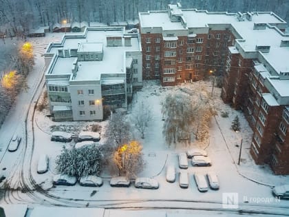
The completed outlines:
[[[61,154],[56,157],[56,169],[61,174],[76,176],[98,175],[101,169],[103,154],[96,145],[78,149],[63,147]]]

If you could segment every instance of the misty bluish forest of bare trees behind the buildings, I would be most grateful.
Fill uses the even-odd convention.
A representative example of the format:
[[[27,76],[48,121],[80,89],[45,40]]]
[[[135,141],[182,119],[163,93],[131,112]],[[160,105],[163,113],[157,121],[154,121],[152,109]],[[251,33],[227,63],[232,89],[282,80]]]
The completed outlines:
[[[208,11],[272,11],[289,21],[288,0],[182,0],[182,8]],[[139,12],[167,10],[170,0],[0,0],[0,32],[29,32],[63,20],[109,23],[138,19]],[[10,32],[8,32],[9,34]],[[8,35],[9,36],[9,35]]]

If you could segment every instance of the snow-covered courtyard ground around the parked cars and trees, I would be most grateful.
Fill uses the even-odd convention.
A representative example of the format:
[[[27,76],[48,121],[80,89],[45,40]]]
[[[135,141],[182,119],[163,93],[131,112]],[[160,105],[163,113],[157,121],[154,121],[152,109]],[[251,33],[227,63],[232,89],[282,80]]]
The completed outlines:
[[[0,130],[1,136],[1,147],[3,150],[6,149],[10,138],[15,130],[17,130],[19,125],[23,127],[21,123],[24,122],[23,111],[27,109],[32,90],[36,88],[37,83],[39,83],[39,72],[43,69],[43,59],[41,59],[42,50],[47,45],[48,41],[59,41],[62,34],[49,34],[48,37],[32,39],[35,48],[38,53],[36,53],[36,66],[34,72],[30,75],[29,85],[31,92],[22,93],[19,96],[17,104],[10,112],[10,116],[7,118],[3,127]],[[37,48],[39,46],[39,48]],[[211,91],[211,83],[205,83],[208,90]],[[210,137],[209,140],[204,144],[198,143],[198,145],[208,152],[208,156],[212,159],[211,167],[193,167],[189,163],[189,188],[181,189],[178,185],[178,176],[175,183],[167,183],[165,180],[165,167],[167,165],[175,165],[177,172],[181,169],[178,167],[178,153],[186,151],[189,146],[184,143],[178,143],[171,145],[170,147],[164,140],[162,135],[162,121],[161,105],[160,102],[164,99],[167,94],[172,94],[180,90],[180,88],[190,89],[193,85],[198,85],[198,83],[186,83],[178,85],[175,87],[161,87],[158,83],[154,81],[145,81],[144,87],[140,92],[137,92],[133,96],[133,102],[131,107],[129,107],[128,118],[133,114],[135,107],[138,107],[138,103],[144,101],[145,103],[151,105],[153,111],[153,121],[149,125],[149,130],[145,134],[145,138],[140,138],[138,132],[134,132],[134,137],[142,143],[144,158],[147,161],[147,165],[143,172],[139,176],[148,176],[156,178],[160,183],[160,188],[157,190],[146,190],[146,189],[136,189],[131,186],[129,188],[114,188],[109,186],[109,177],[114,174],[110,174],[109,169],[105,169],[102,176],[104,178],[104,185],[99,188],[92,187],[81,187],[76,184],[73,187],[62,187],[58,186],[51,188],[49,193],[60,197],[60,198],[71,198],[74,201],[76,207],[82,205],[87,205],[88,207],[94,205],[107,205],[109,202],[105,200],[129,200],[126,205],[133,207],[134,205],[143,205],[136,200],[188,200],[195,202],[203,202],[202,206],[217,206],[222,207],[222,196],[223,193],[237,194],[239,198],[240,206],[255,205],[261,207],[289,207],[289,202],[286,200],[275,200],[272,198],[270,186],[280,185],[284,183],[289,183],[289,176],[275,176],[272,174],[268,166],[258,166],[255,165],[253,159],[249,154],[250,141],[252,137],[252,131],[248,127],[242,112],[232,110],[228,105],[224,105],[220,99],[220,89],[214,88],[213,101],[217,109],[217,116],[212,119],[210,126]],[[228,118],[223,118],[220,114],[221,112],[228,112]],[[56,174],[55,171],[55,158],[61,153],[61,148],[63,145],[67,147],[72,147],[72,143],[57,143],[50,141],[51,127],[52,125],[61,125],[61,127],[66,126],[72,132],[78,132],[78,130],[87,129],[92,123],[86,122],[65,122],[65,123],[54,123],[47,118],[45,115],[47,111],[36,112],[34,119],[34,151],[32,156],[31,170],[32,176],[37,183],[41,184],[43,187],[51,187],[52,176]],[[231,123],[235,115],[239,116],[239,121],[241,123],[241,131],[239,133],[233,132],[231,128]],[[30,120],[28,120],[30,121]],[[102,126],[100,136],[105,133],[105,127],[107,121],[96,122]],[[21,128],[22,129],[22,128]],[[19,130],[19,133],[21,132]],[[28,132],[32,133],[32,132]],[[242,143],[242,157],[240,165],[237,165],[239,156],[239,145]],[[22,145],[22,143],[21,143]],[[23,146],[23,145],[22,145]],[[17,162],[20,157],[19,153],[24,147],[20,146],[17,152],[8,153],[0,152],[1,154],[1,168],[7,167],[7,177],[8,179],[17,178],[17,176],[12,176],[13,170],[19,167]],[[195,146],[192,143],[190,147]],[[238,146],[238,147],[237,147]],[[46,174],[36,173],[36,164],[39,155],[46,153],[50,156],[50,171]],[[5,156],[4,156],[5,154]],[[2,158],[2,156],[4,156]],[[193,174],[195,172],[200,172],[206,174],[206,172],[215,171],[220,178],[220,190],[213,191],[211,189],[206,193],[200,193],[197,190],[195,182],[193,180]],[[11,176],[9,176],[9,173]],[[96,190],[96,194],[91,195],[92,191]],[[48,205],[49,200],[35,201],[33,198],[29,198],[28,195],[20,194],[20,199],[13,200],[1,200],[1,203],[34,203]],[[135,202],[132,202],[135,201]],[[169,202],[167,203],[169,204]],[[207,204],[207,205],[204,205]],[[73,203],[69,204],[73,205]],[[180,205],[180,207],[182,207]],[[216,208],[217,209],[217,208]]]

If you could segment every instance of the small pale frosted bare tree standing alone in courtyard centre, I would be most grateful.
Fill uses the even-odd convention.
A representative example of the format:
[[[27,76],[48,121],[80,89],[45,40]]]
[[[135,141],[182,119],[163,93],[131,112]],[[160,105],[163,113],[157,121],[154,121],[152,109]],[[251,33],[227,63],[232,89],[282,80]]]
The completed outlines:
[[[136,126],[136,130],[142,134],[144,138],[145,132],[149,127],[149,122],[153,120],[153,114],[151,113],[151,107],[143,101],[136,108],[136,113],[133,114],[131,122]]]

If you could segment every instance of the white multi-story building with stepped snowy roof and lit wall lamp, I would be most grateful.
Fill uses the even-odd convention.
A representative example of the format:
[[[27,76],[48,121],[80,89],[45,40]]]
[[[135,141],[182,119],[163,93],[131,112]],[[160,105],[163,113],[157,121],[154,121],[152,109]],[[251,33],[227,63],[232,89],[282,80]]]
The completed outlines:
[[[45,53],[45,81],[55,121],[103,120],[105,107],[127,108],[142,87],[138,33],[125,28],[86,28],[65,34]]]

